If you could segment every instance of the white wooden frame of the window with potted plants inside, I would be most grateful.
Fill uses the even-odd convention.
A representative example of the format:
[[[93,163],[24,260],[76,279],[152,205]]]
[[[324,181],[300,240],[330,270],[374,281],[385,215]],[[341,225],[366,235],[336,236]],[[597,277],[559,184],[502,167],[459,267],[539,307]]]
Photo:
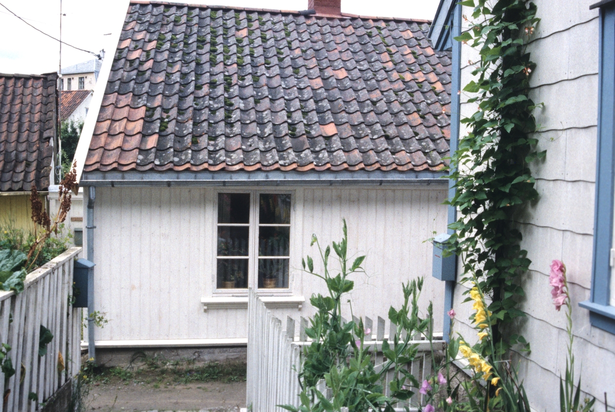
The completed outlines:
[[[218,225],[226,226],[228,224],[218,224],[218,195],[220,193],[250,193],[250,234],[248,235],[248,288],[247,289],[218,289]],[[258,288],[258,259],[259,257],[267,258],[268,256],[258,256],[258,228],[260,224],[258,222],[260,213],[260,195],[261,194],[274,194],[274,195],[290,195],[290,224],[287,225],[263,225],[263,226],[287,226],[290,227],[290,234],[288,236],[288,288]],[[213,242],[212,242],[212,291],[213,296],[226,297],[226,296],[248,296],[248,289],[252,288],[257,293],[263,296],[292,296],[293,289],[293,268],[292,268],[292,256],[293,248],[295,247],[293,241],[293,228],[295,227],[295,190],[275,190],[275,189],[235,189],[235,188],[218,188],[215,190],[213,199],[213,212],[215,217],[213,219]],[[279,256],[276,256],[279,259]]]

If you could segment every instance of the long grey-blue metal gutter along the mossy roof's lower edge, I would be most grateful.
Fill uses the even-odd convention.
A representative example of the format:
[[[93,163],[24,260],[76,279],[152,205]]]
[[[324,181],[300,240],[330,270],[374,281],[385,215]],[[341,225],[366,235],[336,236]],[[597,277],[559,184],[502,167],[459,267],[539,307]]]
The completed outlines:
[[[147,171],[84,172],[82,186],[446,185],[430,171]]]

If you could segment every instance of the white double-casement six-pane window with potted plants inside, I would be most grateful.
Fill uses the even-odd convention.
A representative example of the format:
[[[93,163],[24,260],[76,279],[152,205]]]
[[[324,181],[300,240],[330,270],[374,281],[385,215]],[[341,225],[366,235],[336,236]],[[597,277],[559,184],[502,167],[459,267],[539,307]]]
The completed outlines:
[[[218,193],[216,289],[288,288],[290,200]]]

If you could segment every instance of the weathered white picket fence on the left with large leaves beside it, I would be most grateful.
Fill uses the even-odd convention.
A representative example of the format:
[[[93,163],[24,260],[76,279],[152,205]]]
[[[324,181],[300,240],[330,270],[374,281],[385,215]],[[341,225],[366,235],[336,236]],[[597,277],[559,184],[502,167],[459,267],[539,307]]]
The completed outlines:
[[[8,380],[0,372],[0,412],[37,410],[79,373],[81,309],[69,305],[73,260],[79,252],[81,248],[71,248],[28,274],[22,293],[0,292],[0,342],[10,345],[8,357],[16,371]],[[54,335],[43,357],[38,355],[41,325]],[[38,401],[28,399],[32,393]]]

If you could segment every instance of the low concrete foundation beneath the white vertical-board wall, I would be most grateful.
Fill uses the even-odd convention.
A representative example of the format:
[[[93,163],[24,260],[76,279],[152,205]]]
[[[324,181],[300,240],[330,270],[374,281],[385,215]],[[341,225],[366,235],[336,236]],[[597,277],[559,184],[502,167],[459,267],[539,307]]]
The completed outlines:
[[[97,348],[96,358],[99,366],[129,366],[130,363],[142,362],[143,356],[159,359],[191,360],[194,362],[223,362],[226,360],[247,361],[247,347],[132,347],[132,348]]]

